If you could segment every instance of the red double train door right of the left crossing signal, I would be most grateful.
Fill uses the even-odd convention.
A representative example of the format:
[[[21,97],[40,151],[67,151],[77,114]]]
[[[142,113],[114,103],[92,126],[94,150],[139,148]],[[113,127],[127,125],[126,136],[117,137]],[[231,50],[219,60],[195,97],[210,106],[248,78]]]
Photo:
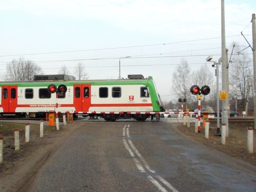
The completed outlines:
[[[74,107],[76,111],[88,112],[91,106],[91,84],[74,85]]]

